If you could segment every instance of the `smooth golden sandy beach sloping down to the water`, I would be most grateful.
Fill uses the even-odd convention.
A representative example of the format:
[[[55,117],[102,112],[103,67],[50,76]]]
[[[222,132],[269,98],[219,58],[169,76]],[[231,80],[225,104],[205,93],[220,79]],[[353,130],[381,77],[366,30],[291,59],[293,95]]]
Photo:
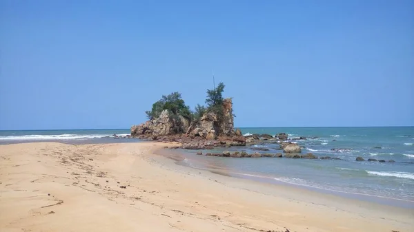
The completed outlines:
[[[191,169],[166,145],[1,145],[0,231],[414,231],[413,209]]]

